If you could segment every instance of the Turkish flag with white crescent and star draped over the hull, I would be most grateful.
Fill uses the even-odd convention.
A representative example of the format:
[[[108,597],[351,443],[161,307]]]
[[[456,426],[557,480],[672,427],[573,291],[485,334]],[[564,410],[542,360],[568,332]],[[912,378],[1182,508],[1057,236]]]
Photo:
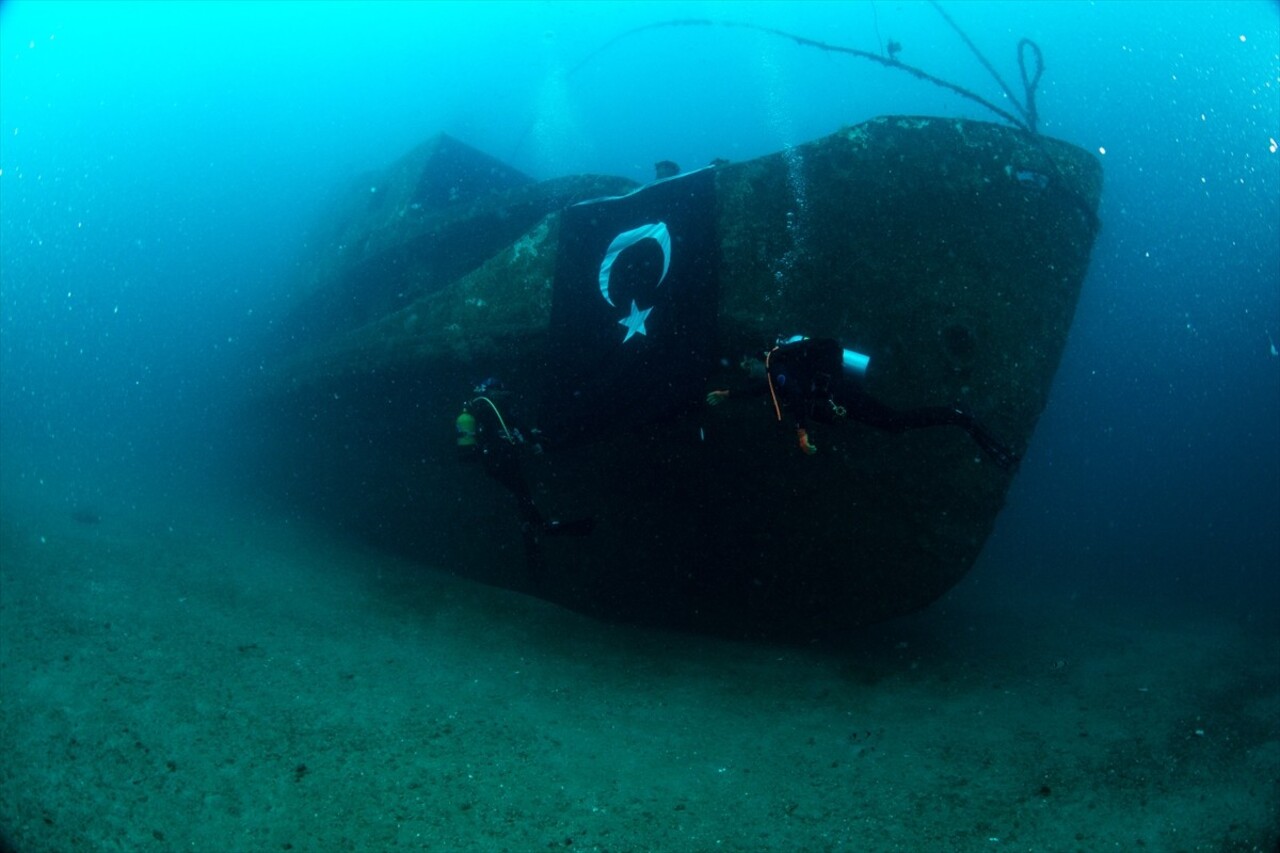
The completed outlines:
[[[716,174],[561,213],[539,428],[550,447],[675,416],[716,355]]]

